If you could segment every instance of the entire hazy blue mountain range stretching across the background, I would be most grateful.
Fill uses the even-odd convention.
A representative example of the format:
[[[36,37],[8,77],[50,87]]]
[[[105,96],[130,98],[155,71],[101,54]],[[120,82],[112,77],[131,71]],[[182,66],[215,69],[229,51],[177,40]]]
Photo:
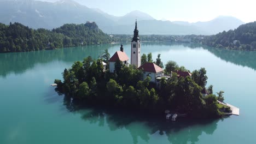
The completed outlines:
[[[52,29],[65,23],[95,21],[105,33],[132,34],[135,19],[138,21],[139,34],[216,34],[244,23],[231,16],[196,23],[161,21],[138,10],[124,16],[113,16],[72,0],[55,3],[34,0],[0,1],[0,22],[20,22],[32,28]]]

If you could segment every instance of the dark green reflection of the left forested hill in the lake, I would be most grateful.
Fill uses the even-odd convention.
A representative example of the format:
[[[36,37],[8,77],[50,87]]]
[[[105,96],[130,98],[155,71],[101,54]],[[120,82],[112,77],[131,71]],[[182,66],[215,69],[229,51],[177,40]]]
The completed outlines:
[[[85,47],[72,47],[58,50],[0,53],[0,76],[5,77],[9,73],[22,74],[27,69],[34,68],[37,64],[52,61],[74,62],[82,61],[91,56],[97,58],[99,53],[112,45],[90,45]]]

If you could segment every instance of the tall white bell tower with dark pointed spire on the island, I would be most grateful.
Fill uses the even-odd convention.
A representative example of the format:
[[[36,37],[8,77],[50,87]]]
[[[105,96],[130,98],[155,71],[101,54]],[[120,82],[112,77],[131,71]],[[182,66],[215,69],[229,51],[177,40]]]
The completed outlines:
[[[136,68],[141,66],[141,43],[138,36],[137,20],[135,22],[135,29],[131,41],[131,64],[135,65]]]

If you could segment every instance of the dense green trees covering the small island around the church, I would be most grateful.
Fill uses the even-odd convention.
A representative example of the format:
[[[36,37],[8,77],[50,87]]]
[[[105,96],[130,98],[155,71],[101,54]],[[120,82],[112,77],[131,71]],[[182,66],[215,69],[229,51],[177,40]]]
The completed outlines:
[[[192,76],[178,77],[173,73],[171,79],[161,79],[160,87],[150,82],[150,77],[142,79],[143,71],[121,61],[115,63],[115,73],[103,70],[102,61],[108,62],[107,50],[93,60],[87,57],[83,62],[75,62],[70,69],[62,73],[63,81],[55,80],[56,91],[65,94],[65,100],[72,105],[103,106],[112,109],[162,115],[166,109],[188,113],[191,117],[220,117],[217,99],[223,99],[223,93],[217,97],[212,94],[202,97],[202,88],[206,86],[206,70],[195,70]],[[148,55],[147,61],[153,61]],[[160,61],[160,58],[156,59]],[[161,62],[160,62],[161,63]],[[166,72],[180,69],[172,61],[166,64]],[[185,68],[183,68],[185,69]]]

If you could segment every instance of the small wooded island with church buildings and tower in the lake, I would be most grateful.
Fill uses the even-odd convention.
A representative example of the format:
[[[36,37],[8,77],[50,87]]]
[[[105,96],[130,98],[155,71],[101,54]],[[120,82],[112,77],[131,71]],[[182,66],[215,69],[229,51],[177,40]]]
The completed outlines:
[[[137,22],[131,41],[131,62],[123,45],[110,57],[105,50],[98,59],[90,56],[74,62],[55,80],[56,91],[78,107],[99,106],[142,115],[182,113],[192,118],[219,118],[230,115],[223,103],[223,91],[213,94],[206,87],[205,68],[190,72],[176,62],[153,62],[152,53],[141,56]]]

